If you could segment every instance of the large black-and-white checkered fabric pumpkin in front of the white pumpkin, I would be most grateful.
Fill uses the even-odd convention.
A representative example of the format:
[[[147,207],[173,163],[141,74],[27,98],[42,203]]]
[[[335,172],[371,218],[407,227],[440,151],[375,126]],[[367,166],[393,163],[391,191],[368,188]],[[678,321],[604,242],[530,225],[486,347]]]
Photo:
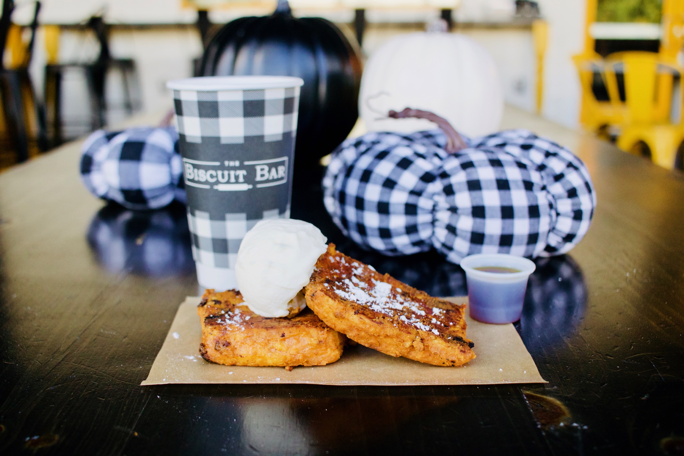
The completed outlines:
[[[467,139],[367,133],[332,154],[324,202],[353,241],[387,255],[563,254],[589,229],[596,193],[572,152],[527,130]]]

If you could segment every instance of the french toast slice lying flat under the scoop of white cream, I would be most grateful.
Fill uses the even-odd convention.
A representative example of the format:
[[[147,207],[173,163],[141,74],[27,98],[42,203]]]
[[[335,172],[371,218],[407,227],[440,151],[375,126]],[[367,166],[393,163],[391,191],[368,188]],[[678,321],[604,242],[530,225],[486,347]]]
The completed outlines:
[[[305,309],[291,318],[266,318],[239,291],[205,291],[200,355],[227,366],[323,366],[339,360],[347,338]]]

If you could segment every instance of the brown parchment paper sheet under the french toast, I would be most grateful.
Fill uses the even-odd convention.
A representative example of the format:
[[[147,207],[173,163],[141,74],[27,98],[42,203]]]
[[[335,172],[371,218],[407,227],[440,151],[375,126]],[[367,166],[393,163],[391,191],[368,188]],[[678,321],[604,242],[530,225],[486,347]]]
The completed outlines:
[[[467,297],[447,298],[464,303]],[[199,297],[187,297],[176,313],[169,334],[142,385],[219,384],[320,384],[320,385],[487,385],[547,383],[512,324],[488,325],[469,317],[467,335],[477,358],[459,367],[422,364],[394,358],[357,345],[347,347],[339,361],[327,366],[282,367],[222,366],[206,362],[198,349],[202,339]]]

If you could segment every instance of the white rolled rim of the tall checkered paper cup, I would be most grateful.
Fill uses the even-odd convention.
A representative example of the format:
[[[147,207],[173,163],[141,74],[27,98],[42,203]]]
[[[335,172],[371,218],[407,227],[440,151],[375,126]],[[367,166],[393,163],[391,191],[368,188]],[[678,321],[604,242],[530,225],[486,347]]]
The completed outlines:
[[[218,92],[220,90],[262,90],[294,88],[304,85],[304,79],[294,76],[200,76],[174,79],[166,83],[171,90]]]

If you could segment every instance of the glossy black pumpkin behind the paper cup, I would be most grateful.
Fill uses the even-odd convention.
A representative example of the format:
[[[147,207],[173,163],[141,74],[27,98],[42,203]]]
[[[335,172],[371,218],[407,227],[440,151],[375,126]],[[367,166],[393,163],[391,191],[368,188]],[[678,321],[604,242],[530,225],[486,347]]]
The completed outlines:
[[[352,42],[354,38],[351,38]],[[202,57],[200,76],[276,75],[304,79],[295,170],[315,165],[347,137],[358,118],[358,44],[323,18],[294,18],[287,1],[271,16],[224,25]]]

